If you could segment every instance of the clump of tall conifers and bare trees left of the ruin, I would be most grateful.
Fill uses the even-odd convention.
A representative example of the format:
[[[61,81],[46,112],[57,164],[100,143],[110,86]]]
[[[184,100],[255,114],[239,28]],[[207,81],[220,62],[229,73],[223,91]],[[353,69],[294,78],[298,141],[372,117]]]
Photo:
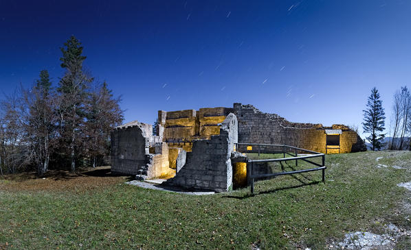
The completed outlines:
[[[109,154],[110,131],[122,123],[120,98],[94,82],[83,68],[81,42],[71,36],[60,48],[64,75],[53,86],[46,70],[29,89],[0,100],[0,174],[96,166]]]

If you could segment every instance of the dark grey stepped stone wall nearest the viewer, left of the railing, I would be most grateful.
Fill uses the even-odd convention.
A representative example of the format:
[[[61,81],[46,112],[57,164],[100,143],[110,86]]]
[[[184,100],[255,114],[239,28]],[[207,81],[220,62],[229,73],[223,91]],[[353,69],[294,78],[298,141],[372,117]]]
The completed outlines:
[[[231,153],[237,142],[236,116],[228,114],[219,129],[219,135],[210,140],[194,140],[192,152],[186,153],[186,164],[166,184],[223,192],[232,185]]]

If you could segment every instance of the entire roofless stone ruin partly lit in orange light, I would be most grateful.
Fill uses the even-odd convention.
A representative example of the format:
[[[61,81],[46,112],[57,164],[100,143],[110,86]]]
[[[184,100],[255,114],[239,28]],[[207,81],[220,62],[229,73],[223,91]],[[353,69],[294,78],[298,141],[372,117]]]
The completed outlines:
[[[237,142],[284,144],[321,153],[366,151],[364,141],[344,125],[291,123],[241,103],[233,108],[159,110],[156,130],[153,135],[152,125],[138,121],[116,127],[111,132],[111,171],[223,192],[232,187],[233,169],[238,171],[233,167],[241,158]]]

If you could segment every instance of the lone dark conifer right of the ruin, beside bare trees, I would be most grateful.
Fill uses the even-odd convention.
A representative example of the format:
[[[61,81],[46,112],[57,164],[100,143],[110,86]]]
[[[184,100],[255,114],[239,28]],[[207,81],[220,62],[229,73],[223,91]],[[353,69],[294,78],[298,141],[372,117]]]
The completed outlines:
[[[364,122],[362,123],[362,128],[364,133],[370,133],[366,139],[373,145],[373,151],[375,149],[381,149],[384,143],[385,134],[381,134],[384,131],[385,125],[385,113],[384,108],[382,108],[382,101],[379,99],[379,92],[377,88],[371,90],[371,95],[368,97],[366,110],[364,112]]]

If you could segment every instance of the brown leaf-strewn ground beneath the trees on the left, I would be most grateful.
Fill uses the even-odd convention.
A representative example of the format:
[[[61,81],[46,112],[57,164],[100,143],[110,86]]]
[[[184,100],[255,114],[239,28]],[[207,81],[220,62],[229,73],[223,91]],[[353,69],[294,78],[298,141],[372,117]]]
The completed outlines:
[[[0,190],[7,191],[82,191],[93,190],[118,184],[129,179],[128,176],[111,175],[109,166],[88,168],[78,173],[69,171],[49,171],[43,178],[35,173],[7,175],[0,179]]]

